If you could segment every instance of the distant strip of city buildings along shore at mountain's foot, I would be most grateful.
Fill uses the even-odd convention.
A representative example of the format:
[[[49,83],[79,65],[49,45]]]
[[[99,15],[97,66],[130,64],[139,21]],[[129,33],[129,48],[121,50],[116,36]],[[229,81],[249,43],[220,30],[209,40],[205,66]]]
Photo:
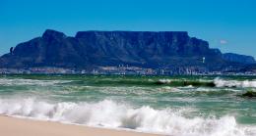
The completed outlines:
[[[0,68],[0,74],[138,74],[138,75],[256,75],[255,71],[240,72],[237,68],[211,71],[203,67],[139,68],[119,65],[93,69],[75,68]]]

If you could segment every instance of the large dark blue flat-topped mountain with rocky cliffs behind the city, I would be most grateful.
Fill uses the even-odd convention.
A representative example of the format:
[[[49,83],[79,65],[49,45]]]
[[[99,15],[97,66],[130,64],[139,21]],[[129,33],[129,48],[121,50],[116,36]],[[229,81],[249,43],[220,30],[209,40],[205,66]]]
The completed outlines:
[[[203,63],[205,58],[205,63]],[[0,68],[94,68],[129,65],[144,68],[230,65],[207,41],[184,31],[79,31],[75,37],[47,29],[0,58]]]

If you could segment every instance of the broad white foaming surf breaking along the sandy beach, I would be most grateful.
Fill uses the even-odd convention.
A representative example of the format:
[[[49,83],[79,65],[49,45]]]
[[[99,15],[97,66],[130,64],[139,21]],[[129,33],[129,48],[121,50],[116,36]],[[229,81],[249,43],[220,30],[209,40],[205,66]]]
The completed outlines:
[[[0,99],[0,113],[108,128],[129,128],[173,136],[255,135],[252,126],[238,126],[233,116],[187,118],[170,109],[133,108],[111,100],[98,103],[49,103],[36,99]],[[186,112],[183,110],[183,112]]]

